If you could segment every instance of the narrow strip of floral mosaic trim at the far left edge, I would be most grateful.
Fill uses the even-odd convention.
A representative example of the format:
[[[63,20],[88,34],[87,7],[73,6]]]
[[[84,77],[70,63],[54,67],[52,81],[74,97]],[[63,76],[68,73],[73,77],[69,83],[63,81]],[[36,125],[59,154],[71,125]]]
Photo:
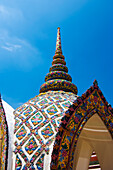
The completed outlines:
[[[5,170],[7,168],[7,152],[8,152],[8,126],[6,121],[5,111],[0,97],[0,140],[1,140],[1,153],[0,153],[0,168]]]

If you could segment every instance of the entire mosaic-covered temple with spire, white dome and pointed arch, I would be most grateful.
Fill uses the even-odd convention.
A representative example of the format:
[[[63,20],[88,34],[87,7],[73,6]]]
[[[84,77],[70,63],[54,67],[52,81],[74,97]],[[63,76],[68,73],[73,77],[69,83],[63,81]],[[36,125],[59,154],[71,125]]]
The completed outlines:
[[[77,93],[58,27],[52,66],[39,94],[14,111],[14,137],[9,145],[12,132],[6,132],[9,127],[1,108],[0,154],[5,160],[1,169],[8,164],[8,170],[112,170],[113,108],[96,80],[82,96]]]

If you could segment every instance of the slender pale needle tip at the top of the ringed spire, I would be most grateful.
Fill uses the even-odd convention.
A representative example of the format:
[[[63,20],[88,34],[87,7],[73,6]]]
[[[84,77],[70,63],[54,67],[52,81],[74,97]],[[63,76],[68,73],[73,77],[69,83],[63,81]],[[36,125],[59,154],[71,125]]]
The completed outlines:
[[[58,54],[58,53],[62,54],[60,27],[57,28],[57,41],[56,41],[56,51],[55,51],[55,54]]]

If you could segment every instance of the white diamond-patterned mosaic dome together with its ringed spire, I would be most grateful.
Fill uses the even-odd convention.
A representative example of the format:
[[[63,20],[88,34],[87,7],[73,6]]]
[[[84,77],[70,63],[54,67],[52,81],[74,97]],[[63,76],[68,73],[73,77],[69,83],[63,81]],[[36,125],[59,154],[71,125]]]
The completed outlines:
[[[52,66],[40,94],[15,110],[14,169],[50,169],[51,153],[61,118],[77,98],[62,54],[60,28]]]

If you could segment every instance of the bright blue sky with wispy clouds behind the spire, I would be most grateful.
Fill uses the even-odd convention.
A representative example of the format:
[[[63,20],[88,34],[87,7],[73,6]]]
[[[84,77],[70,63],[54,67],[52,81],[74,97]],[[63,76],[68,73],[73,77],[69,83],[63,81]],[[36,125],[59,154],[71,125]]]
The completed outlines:
[[[55,54],[57,27],[81,96],[95,79],[113,106],[112,0],[1,0],[0,93],[14,109],[39,94]]]

